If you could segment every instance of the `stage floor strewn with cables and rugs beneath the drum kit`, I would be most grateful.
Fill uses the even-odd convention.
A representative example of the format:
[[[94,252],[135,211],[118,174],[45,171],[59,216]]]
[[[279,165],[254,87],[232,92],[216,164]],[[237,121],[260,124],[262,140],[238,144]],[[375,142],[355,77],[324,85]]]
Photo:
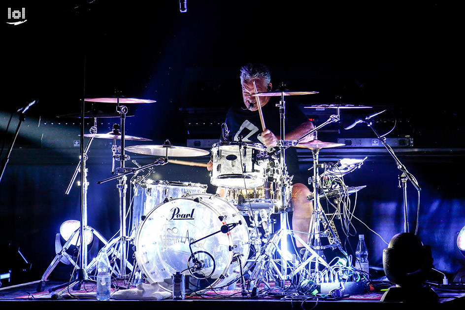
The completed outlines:
[[[42,292],[37,292],[37,282],[29,282],[10,287],[0,288],[0,307],[2,309],[13,309],[11,307],[19,306],[18,302],[41,302],[46,303],[48,309],[53,307],[63,307],[60,301],[67,301],[66,307],[101,307],[101,301],[96,299],[96,289],[93,282],[82,283],[79,290],[73,290],[72,287],[63,285],[63,282],[48,281]],[[57,288],[58,286],[65,287]],[[133,307],[133,302],[137,302],[138,309],[154,307],[154,303],[159,303],[157,307],[166,307],[166,309],[238,309],[247,307],[247,309],[267,309],[267,310],[310,310],[310,309],[408,309],[412,306],[428,306],[434,309],[465,309],[465,290],[440,288],[432,286],[434,292],[439,297],[436,302],[428,301],[421,294],[412,294],[412,300],[407,302],[381,302],[383,292],[367,292],[361,295],[343,295],[335,298],[330,295],[317,294],[315,296],[303,296],[297,294],[293,289],[282,291],[280,289],[270,289],[262,291],[257,298],[251,298],[241,295],[240,286],[233,290],[215,290],[207,291],[202,294],[189,296],[185,300],[172,300],[171,297],[162,300],[143,300],[142,298],[131,297],[125,300],[111,299],[110,307]],[[24,306],[24,304],[21,304]],[[8,307],[8,308],[6,308]],[[169,308],[168,308],[169,307]],[[398,308],[400,307],[400,308]],[[402,308],[404,307],[404,308]]]

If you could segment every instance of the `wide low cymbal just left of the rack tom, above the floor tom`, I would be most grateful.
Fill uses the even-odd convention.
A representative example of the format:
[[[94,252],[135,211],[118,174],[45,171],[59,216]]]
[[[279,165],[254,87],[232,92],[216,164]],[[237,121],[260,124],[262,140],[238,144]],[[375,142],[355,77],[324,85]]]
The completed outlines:
[[[174,146],[170,144],[162,145],[133,145],[125,148],[126,151],[143,154],[143,155],[152,155],[152,156],[169,156],[169,157],[194,157],[194,156],[204,156],[210,154],[209,151],[184,147],[184,146]]]

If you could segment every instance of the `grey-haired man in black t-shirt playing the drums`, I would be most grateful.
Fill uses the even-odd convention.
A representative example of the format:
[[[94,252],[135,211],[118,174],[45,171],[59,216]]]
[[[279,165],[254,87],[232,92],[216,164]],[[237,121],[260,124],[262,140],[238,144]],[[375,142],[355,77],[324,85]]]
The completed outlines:
[[[254,86],[255,82],[255,86]],[[280,97],[272,96],[250,96],[256,93],[266,93],[272,90],[271,76],[269,69],[261,64],[247,64],[240,70],[240,83],[242,86],[242,104],[233,105],[226,114],[226,125],[230,132],[229,141],[242,142],[262,142],[267,147],[275,147],[280,140],[280,114],[279,107],[276,103]],[[255,92],[255,88],[257,92]],[[259,98],[257,100],[257,98]],[[265,130],[262,130],[260,115],[258,112],[258,103],[262,107],[262,114],[265,123]],[[300,108],[292,103],[286,102],[285,109],[285,139],[295,140],[301,138],[306,133],[314,129],[313,123],[305,117]],[[313,139],[309,135],[301,142],[308,142]],[[306,241],[309,230],[310,217],[312,214],[312,203],[306,197],[310,195],[310,190],[305,184],[308,184],[308,177],[299,173],[299,162],[297,150],[295,147],[286,149],[286,167],[289,175],[293,175],[292,198],[292,230],[303,240]],[[207,166],[208,171],[213,169],[213,163],[210,161]],[[299,233],[304,232],[304,233]],[[297,247],[303,245],[296,241]]]

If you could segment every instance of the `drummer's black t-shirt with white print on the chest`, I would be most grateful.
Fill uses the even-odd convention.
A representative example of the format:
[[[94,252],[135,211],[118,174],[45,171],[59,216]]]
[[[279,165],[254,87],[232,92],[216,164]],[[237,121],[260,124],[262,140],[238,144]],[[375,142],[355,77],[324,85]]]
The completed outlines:
[[[269,102],[262,107],[263,119],[266,129],[270,130],[274,135],[280,135],[280,114],[279,107],[276,103],[279,102],[278,97],[271,97]],[[226,125],[230,131],[228,141],[239,141],[242,137],[242,142],[262,142],[262,123],[260,122],[260,114],[258,111],[244,110],[245,105],[234,105],[226,114]],[[285,133],[291,132],[302,123],[307,122],[302,110],[298,105],[287,102],[285,104]],[[286,139],[286,136],[284,137]],[[222,139],[224,140],[224,139]],[[294,175],[293,183],[308,183],[308,177],[299,173],[299,161],[297,157],[297,149],[289,147],[285,151],[286,167],[289,175]]]

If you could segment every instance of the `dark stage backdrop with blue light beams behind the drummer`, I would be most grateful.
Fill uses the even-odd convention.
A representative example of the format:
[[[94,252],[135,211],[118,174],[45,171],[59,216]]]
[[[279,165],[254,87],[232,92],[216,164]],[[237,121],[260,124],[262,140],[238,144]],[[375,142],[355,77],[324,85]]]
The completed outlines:
[[[11,2],[11,1],[7,1]],[[274,86],[318,91],[293,100],[310,106],[343,103],[371,109],[341,111],[341,123],[319,133],[321,140],[373,138],[365,126],[343,127],[355,117],[388,109],[376,120],[381,133],[397,120],[388,138],[414,139],[395,148],[422,188],[419,237],[432,246],[435,268],[452,275],[464,266],[455,244],[465,224],[464,123],[460,81],[462,57],[458,7],[431,1],[404,4],[311,1],[14,1],[27,22],[4,23],[0,124],[2,159],[26,112],[1,180],[0,229],[3,242],[20,247],[32,263],[28,280],[39,279],[55,255],[54,236],[66,219],[79,219],[80,188],[65,191],[79,160],[82,98],[125,97],[155,100],[128,104],[126,134],[149,144],[190,146],[191,139],[217,139],[226,109],[241,104],[239,68],[247,62],[271,67]],[[6,15],[6,14],[5,14]],[[297,96],[296,96],[297,97]],[[111,103],[85,109],[114,112]],[[304,108],[319,125],[334,110]],[[100,118],[99,133],[118,118]],[[85,133],[93,125],[86,119]],[[87,141],[87,140],[86,140]],[[93,142],[89,152],[89,225],[105,238],[119,228],[116,182],[111,176],[112,140]],[[127,145],[141,144],[128,141]],[[355,215],[384,241],[403,231],[402,192],[392,157],[384,148],[321,151],[322,161],[352,156],[368,159],[347,175],[347,185],[367,187],[357,196]],[[140,164],[153,158],[132,155]],[[191,160],[191,159],[188,159]],[[192,159],[207,162],[208,157]],[[311,154],[300,150],[302,172]],[[166,165],[154,177],[209,184],[203,168]],[[209,192],[214,188],[209,186]],[[417,219],[417,196],[408,184],[410,228]],[[386,243],[353,219],[349,243],[365,234],[370,264],[382,266]],[[442,276],[439,275],[439,278]]]

